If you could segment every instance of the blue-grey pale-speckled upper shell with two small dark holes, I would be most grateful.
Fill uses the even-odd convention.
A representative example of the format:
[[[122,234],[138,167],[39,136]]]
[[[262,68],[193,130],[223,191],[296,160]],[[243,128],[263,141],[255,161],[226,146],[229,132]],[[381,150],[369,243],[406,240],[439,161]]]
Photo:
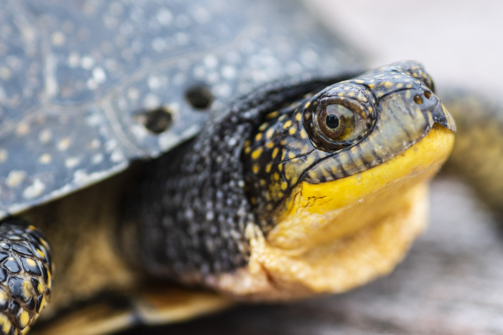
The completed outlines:
[[[355,55],[296,2],[0,0],[0,216],[63,196],[194,136],[261,84],[337,73]],[[141,113],[173,122],[149,132]]]

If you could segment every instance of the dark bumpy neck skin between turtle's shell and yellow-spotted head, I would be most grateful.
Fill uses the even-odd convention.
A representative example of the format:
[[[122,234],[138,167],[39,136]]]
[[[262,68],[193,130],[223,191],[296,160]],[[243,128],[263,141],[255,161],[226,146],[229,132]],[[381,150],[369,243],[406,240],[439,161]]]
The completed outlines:
[[[245,228],[258,222],[245,191],[244,142],[269,111],[339,80],[265,86],[214,113],[190,143],[147,164],[130,202],[135,228],[124,229],[133,232],[126,234],[126,246],[139,239],[140,254],[130,251],[131,257],[151,275],[185,282],[246,265]]]

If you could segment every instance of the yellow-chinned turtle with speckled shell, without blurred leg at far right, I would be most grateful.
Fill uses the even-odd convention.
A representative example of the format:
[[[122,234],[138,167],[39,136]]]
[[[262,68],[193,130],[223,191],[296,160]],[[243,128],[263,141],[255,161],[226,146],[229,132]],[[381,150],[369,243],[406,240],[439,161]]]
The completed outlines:
[[[344,292],[424,228],[456,126],[422,64],[289,1],[4,5],[0,332]]]

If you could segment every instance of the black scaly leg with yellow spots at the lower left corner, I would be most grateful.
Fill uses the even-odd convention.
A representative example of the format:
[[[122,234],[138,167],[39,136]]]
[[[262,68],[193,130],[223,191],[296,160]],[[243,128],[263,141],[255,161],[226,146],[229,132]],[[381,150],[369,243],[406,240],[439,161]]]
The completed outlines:
[[[47,302],[52,284],[50,247],[26,221],[0,224],[0,334],[25,334]]]

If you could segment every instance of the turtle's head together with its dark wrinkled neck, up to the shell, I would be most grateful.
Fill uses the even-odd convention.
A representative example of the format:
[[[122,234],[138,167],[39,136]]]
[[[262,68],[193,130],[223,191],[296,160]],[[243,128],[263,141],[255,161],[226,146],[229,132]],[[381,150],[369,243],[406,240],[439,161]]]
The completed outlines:
[[[148,273],[287,299],[348,290],[401,260],[453,120],[415,62],[328,83],[265,85],[145,166],[136,228],[122,231]]]

